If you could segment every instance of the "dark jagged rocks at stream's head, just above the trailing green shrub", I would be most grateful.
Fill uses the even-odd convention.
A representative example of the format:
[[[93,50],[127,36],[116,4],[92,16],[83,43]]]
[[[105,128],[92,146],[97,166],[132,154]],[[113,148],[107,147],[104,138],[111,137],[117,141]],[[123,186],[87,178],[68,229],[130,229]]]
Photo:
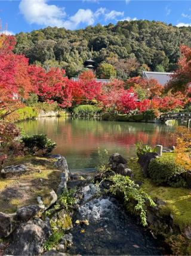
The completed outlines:
[[[109,165],[115,173],[133,178],[133,171],[127,167],[127,160],[119,153],[113,153],[113,155],[110,156]]]

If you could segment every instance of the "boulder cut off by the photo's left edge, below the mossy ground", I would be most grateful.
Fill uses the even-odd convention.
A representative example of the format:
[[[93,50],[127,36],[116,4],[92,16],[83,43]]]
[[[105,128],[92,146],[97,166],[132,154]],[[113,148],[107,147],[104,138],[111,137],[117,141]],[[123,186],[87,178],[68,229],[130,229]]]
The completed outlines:
[[[15,227],[14,216],[0,212],[0,238],[9,236]]]

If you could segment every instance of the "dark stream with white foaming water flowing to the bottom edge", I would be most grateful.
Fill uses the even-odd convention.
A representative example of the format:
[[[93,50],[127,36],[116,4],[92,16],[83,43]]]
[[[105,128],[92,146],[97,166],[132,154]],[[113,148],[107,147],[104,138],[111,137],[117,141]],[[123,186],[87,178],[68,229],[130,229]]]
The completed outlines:
[[[75,215],[76,220],[88,224],[75,224],[70,233],[73,246],[69,254],[79,255],[162,255],[159,242],[149,231],[127,215],[113,197],[94,198],[96,186],[84,188],[84,201]]]

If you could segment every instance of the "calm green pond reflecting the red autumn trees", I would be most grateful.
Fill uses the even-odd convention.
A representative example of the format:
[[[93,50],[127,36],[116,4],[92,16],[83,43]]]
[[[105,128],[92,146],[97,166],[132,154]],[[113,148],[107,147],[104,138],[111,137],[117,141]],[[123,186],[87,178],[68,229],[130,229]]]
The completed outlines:
[[[130,158],[136,155],[138,141],[153,146],[174,144],[174,127],[161,124],[41,118],[20,122],[18,126],[27,134],[44,133],[56,141],[54,153],[64,155],[70,169],[95,167],[98,147]]]

